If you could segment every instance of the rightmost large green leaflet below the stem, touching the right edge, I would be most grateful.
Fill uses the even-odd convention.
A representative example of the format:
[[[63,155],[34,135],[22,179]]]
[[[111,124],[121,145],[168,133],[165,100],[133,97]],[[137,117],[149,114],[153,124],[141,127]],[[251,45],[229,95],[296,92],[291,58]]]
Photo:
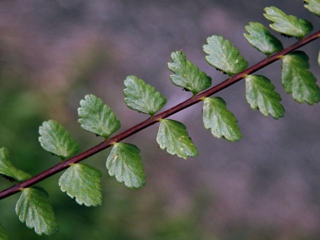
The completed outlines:
[[[312,105],[320,101],[320,88],[316,78],[308,69],[309,57],[303,51],[294,51],[282,57],[282,85],[286,93],[299,103]]]

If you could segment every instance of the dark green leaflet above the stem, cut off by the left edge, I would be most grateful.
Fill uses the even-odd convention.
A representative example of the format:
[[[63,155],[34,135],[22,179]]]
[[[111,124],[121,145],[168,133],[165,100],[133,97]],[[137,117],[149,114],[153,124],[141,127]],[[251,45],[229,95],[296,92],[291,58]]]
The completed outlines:
[[[29,173],[26,173],[13,166],[10,161],[9,151],[6,147],[0,148],[0,174],[9,179],[17,181],[24,181],[31,177]]]

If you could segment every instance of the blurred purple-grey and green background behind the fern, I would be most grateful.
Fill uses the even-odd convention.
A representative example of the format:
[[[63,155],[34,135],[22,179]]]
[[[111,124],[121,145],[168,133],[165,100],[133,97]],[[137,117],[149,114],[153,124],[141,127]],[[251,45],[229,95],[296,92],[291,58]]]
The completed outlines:
[[[122,131],[147,115],[123,102],[123,79],[134,74],[168,99],[168,108],[191,96],[174,86],[166,62],[183,49],[188,59],[212,77],[226,78],[203,59],[202,44],[223,35],[249,65],[264,58],[243,37],[248,21],[265,25],[263,7],[319,18],[302,0],[1,0],[0,146],[13,163],[32,175],[58,163],[38,143],[38,126],[61,122],[81,150],[102,138],[77,123],[78,102],[87,93],[101,97],[121,121]],[[294,38],[273,32],[287,46]],[[319,40],[301,48],[316,64]],[[84,162],[103,172],[103,204],[87,208],[59,190],[61,173],[42,182],[50,195],[59,231],[50,239],[319,239],[320,105],[293,101],[280,84],[280,62],[260,70],[276,85],[286,110],[274,120],[252,111],[240,81],[217,95],[239,121],[239,142],[216,139],[205,130],[201,103],[170,118],[182,121],[199,150],[186,160],[157,147],[157,125],[127,138],[136,144],[147,174],[139,190],[126,189],[105,169],[106,149]],[[0,179],[0,189],[12,183]],[[19,222],[19,194],[0,201],[0,222],[10,239],[47,239]]]

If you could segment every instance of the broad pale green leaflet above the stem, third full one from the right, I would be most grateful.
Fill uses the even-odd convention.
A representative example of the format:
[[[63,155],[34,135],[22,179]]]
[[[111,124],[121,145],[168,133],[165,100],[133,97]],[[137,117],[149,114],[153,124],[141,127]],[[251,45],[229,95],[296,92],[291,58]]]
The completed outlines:
[[[206,41],[208,44],[202,46],[203,51],[208,54],[205,60],[215,68],[232,76],[248,66],[239,50],[229,40],[222,36],[212,35],[206,38]]]

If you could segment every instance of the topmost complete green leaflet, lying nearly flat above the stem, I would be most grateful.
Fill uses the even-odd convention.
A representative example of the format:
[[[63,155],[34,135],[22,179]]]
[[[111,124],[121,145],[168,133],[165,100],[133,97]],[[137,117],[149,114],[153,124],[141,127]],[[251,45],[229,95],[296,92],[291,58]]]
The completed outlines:
[[[264,11],[264,17],[273,22],[269,26],[284,35],[303,38],[313,28],[312,23],[308,20],[287,15],[275,6],[265,7]]]

